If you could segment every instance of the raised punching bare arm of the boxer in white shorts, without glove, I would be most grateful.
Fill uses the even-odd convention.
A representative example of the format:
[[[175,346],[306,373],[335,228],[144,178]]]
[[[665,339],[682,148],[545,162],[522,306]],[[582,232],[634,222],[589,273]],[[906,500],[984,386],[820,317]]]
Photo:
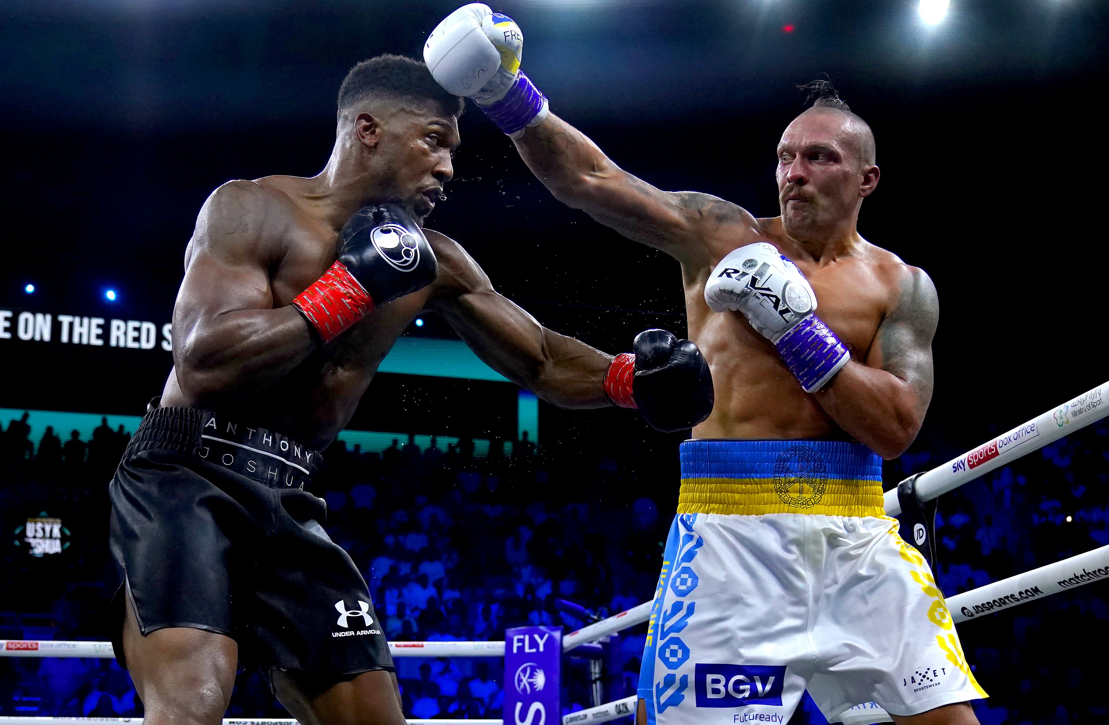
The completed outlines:
[[[560,202],[682,263],[706,262],[708,242],[718,234],[734,237],[736,247],[759,236],[754,217],[743,208],[709,194],[655,188],[617,166],[553,113],[528,129],[516,147]]]

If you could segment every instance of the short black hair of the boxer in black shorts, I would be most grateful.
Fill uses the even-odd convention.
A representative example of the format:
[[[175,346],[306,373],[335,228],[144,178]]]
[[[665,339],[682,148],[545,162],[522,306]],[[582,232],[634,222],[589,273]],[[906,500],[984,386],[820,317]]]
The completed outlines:
[[[338,116],[367,100],[433,102],[447,115],[461,115],[466,101],[442,90],[427,65],[405,55],[385,53],[364,60],[339,86]]]

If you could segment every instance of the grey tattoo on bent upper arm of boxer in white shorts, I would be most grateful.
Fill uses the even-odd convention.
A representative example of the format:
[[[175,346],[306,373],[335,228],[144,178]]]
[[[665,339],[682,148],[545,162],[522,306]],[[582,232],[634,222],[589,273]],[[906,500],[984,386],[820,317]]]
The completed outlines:
[[[878,327],[882,369],[913,386],[922,410],[932,401],[932,338],[938,320],[936,287],[923,269],[913,269],[901,283],[897,305]]]

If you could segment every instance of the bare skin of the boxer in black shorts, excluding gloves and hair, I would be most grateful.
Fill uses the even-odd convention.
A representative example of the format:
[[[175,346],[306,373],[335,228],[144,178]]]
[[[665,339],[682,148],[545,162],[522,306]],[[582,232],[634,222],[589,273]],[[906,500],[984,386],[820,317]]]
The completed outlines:
[[[437,232],[426,231],[438,262],[434,282],[376,307],[329,343],[322,344],[291,304],[336,261],[340,229],[367,202],[391,202],[417,221],[435,208],[459,144],[461,106],[448,98],[370,94],[348,108],[340,98],[335,147],[319,174],[234,181],[208,197],[185,253],[162,408],[241,413],[322,449],[349,421],[394,341],[425,310],[441,314],[482,360],[545,400],[564,408],[612,405],[603,384],[612,356],[539,325]],[[340,614],[343,606],[349,604],[340,604]],[[326,619],[334,622],[335,613]],[[129,601],[122,641],[149,725],[220,723],[235,683],[235,639],[179,625],[144,636]],[[304,674],[272,672],[275,694],[303,725],[405,722],[388,667],[336,675],[324,686],[317,677],[312,687]]]

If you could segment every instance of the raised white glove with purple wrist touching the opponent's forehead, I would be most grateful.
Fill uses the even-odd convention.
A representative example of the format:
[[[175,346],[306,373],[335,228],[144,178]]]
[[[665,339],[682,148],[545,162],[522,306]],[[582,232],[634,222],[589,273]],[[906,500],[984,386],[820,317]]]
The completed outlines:
[[[444,18],[424,43],[424,61],[439,85],[474,99],[513,139],[542,123],[548,108],[547,98],[520,72],[522,53],[519,25],[480,2]]]

